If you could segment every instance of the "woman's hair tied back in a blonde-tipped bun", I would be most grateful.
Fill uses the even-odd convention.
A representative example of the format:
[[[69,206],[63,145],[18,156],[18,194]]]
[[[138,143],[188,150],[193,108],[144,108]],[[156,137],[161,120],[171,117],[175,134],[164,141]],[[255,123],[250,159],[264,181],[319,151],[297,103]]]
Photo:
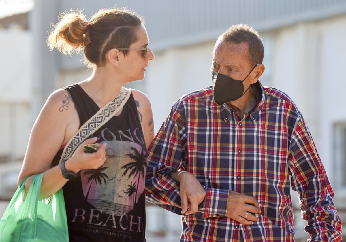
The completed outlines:
[[[105,63],[105,54],[112,48],[128,48],[137,41],[135,29],[144,26],[144,20],[126,8],[101,9],[88,21],[82,10],[70,10],[58,16],[47,37],[49,49],[63,54],[84,51],[88,67]],[[127,50],[122,50],[127,54]]]

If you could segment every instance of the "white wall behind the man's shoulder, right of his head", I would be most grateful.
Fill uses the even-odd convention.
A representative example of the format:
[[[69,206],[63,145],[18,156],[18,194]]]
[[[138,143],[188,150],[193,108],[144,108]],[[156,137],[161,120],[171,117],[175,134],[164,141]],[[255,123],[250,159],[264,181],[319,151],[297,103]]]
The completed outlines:
[[[276,31],[273,86],[286,92],[306,120],[328,178],[333,176],[333,123],[346,120],[342,98],[346,16]]]

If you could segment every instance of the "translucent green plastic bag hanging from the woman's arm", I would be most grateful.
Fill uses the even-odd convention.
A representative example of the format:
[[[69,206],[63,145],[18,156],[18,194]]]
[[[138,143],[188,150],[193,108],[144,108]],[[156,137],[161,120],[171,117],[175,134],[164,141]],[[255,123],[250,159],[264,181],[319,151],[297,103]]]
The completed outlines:
[[[69,241],[65,201],[62,189],[48,203],[38,201],[43,173],[35,175],[23,202],[24,186],[21,182],[0,220],[1,242],[64,242]]]

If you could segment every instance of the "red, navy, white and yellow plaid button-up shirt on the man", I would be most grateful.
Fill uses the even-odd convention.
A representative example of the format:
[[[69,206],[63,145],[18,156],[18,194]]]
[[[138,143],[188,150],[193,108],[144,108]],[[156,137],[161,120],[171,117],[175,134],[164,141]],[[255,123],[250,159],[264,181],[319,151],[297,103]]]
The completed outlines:
[[[243,119],[213,101],[212,87],[173,105],[149,148],[147,199],[181,214],[170,171],[184,169],[207,196],[198,213],[182,217],[181,241],[238,241],[240,233],[244,241],[294,241],[291,178],[311,240],[342,241],[334,193],[300,111],[285,93],[253,86],[258,104]],[[225,216],[230,190],[257,199],[258,222]]]

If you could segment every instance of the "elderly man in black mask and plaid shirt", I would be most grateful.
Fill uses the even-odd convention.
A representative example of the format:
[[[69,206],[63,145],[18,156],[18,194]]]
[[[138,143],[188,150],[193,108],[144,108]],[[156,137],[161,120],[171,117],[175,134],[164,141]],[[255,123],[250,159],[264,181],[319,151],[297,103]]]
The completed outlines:
[[[149,147],[147,199],[184,214],[181,241],[294,241],[290,186],[310,241],[342,241],[302,114],[258,81],[263,55],[256,30],[230,27],[213,50],[213,85],[181,97]]]

